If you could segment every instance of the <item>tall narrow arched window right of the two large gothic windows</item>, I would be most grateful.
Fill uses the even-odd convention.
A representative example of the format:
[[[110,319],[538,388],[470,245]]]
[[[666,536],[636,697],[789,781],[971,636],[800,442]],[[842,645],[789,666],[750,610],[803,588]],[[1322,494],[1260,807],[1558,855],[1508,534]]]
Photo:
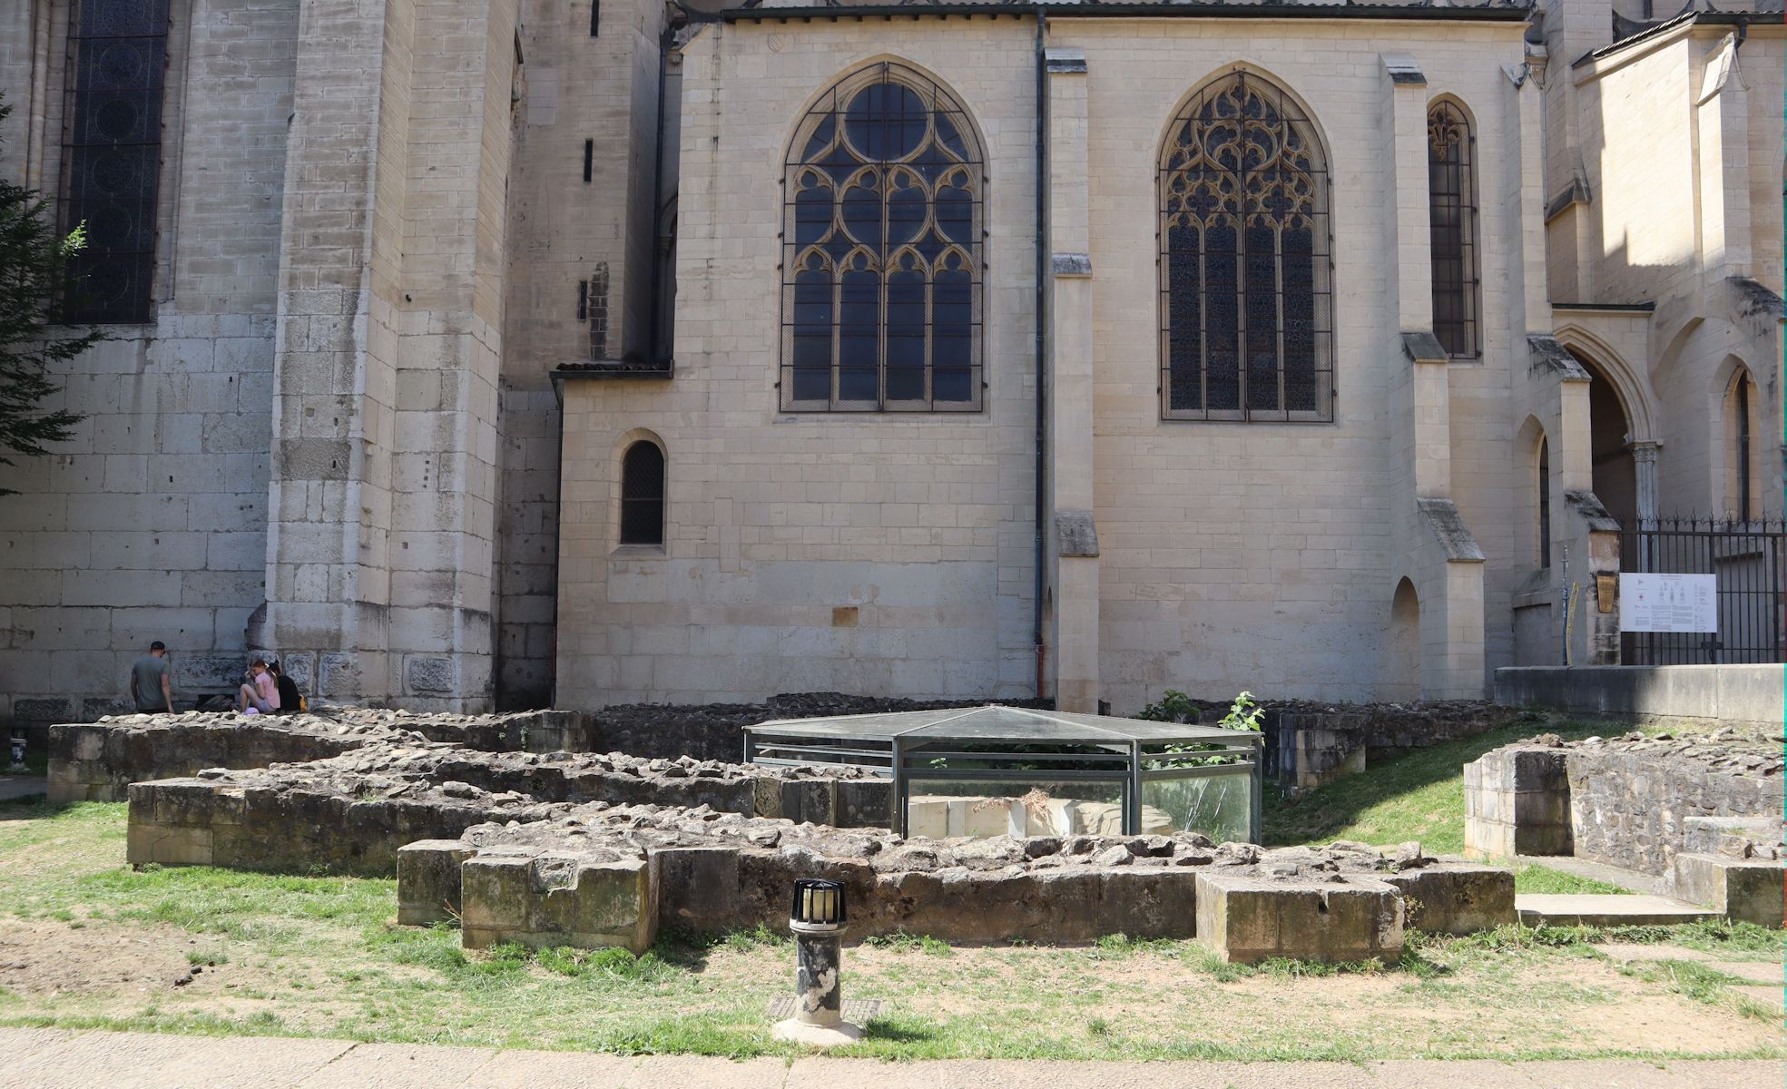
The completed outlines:
[[[1433,334],[1455,359],[1478,356],[1476,138],[1456,102],[1428,109],[1428,220],[1433,241]]]

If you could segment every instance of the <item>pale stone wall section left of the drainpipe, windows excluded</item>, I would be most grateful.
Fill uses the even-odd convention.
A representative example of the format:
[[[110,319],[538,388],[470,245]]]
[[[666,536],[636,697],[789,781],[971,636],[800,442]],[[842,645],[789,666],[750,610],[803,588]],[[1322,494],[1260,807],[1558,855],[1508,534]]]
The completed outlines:
[[[877,57],[942,77],[981,131],[981,413],[777,411],[784,145]],[[1028,21],[722,23],[690,43],[675,377],[565,384],[561,705],[1033,692],[1033,132]],[[667,451],[663,551],[617,547],[618,463],[643,436]]]

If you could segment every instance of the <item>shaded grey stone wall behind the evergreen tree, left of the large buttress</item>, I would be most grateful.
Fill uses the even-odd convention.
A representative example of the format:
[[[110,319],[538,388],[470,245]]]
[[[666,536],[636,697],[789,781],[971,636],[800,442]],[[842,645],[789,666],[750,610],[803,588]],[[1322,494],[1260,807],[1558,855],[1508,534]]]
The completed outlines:
[[[66,4],[9,7],[0,170],[54,195]],[[263,599],[298,0],[173,7],[155,320],[68,365],[54,406],[88,417],[71,442],[0,470],[21,492],[0,499],[0,721],[114,710],[155,638],[177,696],[227,683]]]

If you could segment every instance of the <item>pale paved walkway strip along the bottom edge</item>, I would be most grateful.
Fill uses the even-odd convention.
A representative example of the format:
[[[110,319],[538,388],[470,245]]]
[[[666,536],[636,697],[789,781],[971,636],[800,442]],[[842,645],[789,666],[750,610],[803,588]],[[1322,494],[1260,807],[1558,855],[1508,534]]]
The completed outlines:
[[[876,1062],[622,1059],[0,1028],[4,1089],[1774,1089],[1780,1062]]]

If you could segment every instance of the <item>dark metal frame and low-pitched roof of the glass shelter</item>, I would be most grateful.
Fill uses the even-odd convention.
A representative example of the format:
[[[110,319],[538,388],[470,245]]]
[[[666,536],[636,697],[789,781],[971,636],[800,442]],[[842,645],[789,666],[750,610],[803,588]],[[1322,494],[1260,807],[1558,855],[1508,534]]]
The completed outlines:
[[[1251,730],[985,705],[758,722],[745,728],[745,762],[861,767],[892,776],[901,835],[908,833],[915,781],[1119,787],[1124,835],[1138,835],[1147,783],[1238,776],[1246,769],[1247,839],[1260,842],[1263,742],[1263,735]],[[951,767],[951,762],[970,767]]]

